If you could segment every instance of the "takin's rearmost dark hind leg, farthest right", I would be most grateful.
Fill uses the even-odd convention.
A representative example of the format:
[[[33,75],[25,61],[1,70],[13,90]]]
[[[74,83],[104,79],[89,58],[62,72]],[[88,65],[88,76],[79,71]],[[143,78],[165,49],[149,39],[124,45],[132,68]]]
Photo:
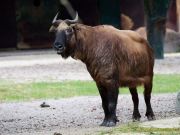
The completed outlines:
[[[154,120],[155,115],[151,107],[151,92],[152,92],[152,83],[144,85],[144,99],[146,103],[146,116],[148,120]]]

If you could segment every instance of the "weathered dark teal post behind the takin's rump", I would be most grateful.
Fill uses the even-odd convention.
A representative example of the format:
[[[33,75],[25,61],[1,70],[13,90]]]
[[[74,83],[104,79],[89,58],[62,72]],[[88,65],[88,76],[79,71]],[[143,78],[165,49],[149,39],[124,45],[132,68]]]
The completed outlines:
[[[144,0],[147,39],[157,59],[164,58],[166,16],[170,0]]]

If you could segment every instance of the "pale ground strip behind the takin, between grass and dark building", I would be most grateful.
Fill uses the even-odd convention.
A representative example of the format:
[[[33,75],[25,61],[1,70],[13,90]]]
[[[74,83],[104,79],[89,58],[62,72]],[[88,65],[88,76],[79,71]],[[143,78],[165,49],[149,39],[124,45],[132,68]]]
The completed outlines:
[[[155,60],[154,73],[180,74],[180,53]],[[11,81],[92,80],[79,60],[62,59],[53,50],[0,52],[0,79]]]

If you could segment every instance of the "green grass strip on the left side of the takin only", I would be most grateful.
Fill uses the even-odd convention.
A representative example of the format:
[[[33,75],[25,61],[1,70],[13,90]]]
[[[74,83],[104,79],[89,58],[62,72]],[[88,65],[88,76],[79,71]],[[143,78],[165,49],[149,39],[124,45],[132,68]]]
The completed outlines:
[[[0,101],[58,99],[74,96],[98,95],[92,81],[0,83]]]

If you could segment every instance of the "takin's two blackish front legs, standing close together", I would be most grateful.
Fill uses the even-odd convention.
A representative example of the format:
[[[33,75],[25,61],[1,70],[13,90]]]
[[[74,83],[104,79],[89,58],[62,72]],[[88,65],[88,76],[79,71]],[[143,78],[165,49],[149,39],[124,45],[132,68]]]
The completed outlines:
[[[98,86],[99,93],[102,99],[102,107],[104,109],[105,118],[101,126],[112,127],[116,125],[116,105],[118,99],[118,88],[107,88]]]

